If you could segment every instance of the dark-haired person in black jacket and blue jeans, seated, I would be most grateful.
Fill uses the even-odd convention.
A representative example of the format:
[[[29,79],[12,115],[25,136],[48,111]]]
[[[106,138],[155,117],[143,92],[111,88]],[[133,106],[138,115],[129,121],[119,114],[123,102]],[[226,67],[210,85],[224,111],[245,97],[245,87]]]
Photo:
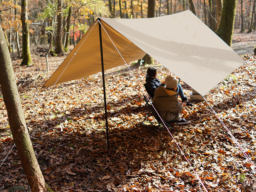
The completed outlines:
[[[155,96],[154,93],[155,93],[156,88],[158,88],[159,86],[164,87],[165,84],[166,84],[165,81],[163,81],[163,83],[161,83],[159,81],[159,79],[156,78],[156,75],[157,75],[157,69],[154,68],[154,67],[149,67],[148,70],[147,70],[147,75],[146,75],[145,88],[146,88],[146,91],[148,92],[148,94],[150,95],[150,97],[152,97],[152,99]],[[180,84],[177,84],[177,90],[176,91],[179,93],[182,102],[186,101],[188,106],[193,106],[194,105],[193,103],[188,101],[188,98],[184,94],[183,89],[182,89]]]

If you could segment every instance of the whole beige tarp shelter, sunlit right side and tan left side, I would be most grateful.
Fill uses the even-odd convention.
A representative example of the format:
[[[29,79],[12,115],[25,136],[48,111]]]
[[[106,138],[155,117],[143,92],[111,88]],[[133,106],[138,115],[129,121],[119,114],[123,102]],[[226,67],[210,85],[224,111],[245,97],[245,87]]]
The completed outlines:
[[[98,22],[94,22],[43,87],[101,71]],[[117,50],[127,63],[142,58],[146,52],[205,95],[244,63],[190,11],[144,19],[100,18],[100,23],[104,70],[124,64]]]

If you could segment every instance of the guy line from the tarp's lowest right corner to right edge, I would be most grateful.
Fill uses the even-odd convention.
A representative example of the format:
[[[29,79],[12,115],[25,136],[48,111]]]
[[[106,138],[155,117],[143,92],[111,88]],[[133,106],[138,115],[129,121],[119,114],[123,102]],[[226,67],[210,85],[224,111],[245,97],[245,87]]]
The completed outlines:
[[[236,140],[236,138],[234,137],[234,135],[232,134],[232,132],[228,129],[228,127],[226,126],[226,124],[221,120],[220,116],[218,116],[218,114],[214,111],[214,109],[212,108],[212,106],[210,105],[210,103],[205,99],[205,97],[203,97],[204,100],[207,102],[207,104],[209,105],[209,107],[212,109],[213,113],[215,114],[215,116],[217,116],[217,118],[219,119],[220,123],[224,126],[224,128],[226,129],[226,131],[228,132],[228,134],[230,135],[230,137],[235,141],[236,145],[238,146],[238,148],[241,150],[241,152],[244,154],[245,158],[247,159],[248,163],[251,164],[250,168],[252,170],[252,173],[255,174],[256,172],[254,172],[253,170],[256,171],[256,167],[253,164],[253,162],[251,161],[250,157],[246,154],[246,152],[244,151],[244,148],[242,148],[242,146],[240,145],[240,143]]]

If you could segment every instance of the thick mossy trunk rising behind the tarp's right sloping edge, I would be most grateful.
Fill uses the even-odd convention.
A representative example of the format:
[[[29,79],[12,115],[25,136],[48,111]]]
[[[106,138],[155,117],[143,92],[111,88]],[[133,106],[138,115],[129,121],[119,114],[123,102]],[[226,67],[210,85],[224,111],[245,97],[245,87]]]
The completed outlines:
[[[236,18],[236,2],[237,0],[223,1],[220,27],[216,31],[216,34],[230,47],[232,45],[234,23]]]

